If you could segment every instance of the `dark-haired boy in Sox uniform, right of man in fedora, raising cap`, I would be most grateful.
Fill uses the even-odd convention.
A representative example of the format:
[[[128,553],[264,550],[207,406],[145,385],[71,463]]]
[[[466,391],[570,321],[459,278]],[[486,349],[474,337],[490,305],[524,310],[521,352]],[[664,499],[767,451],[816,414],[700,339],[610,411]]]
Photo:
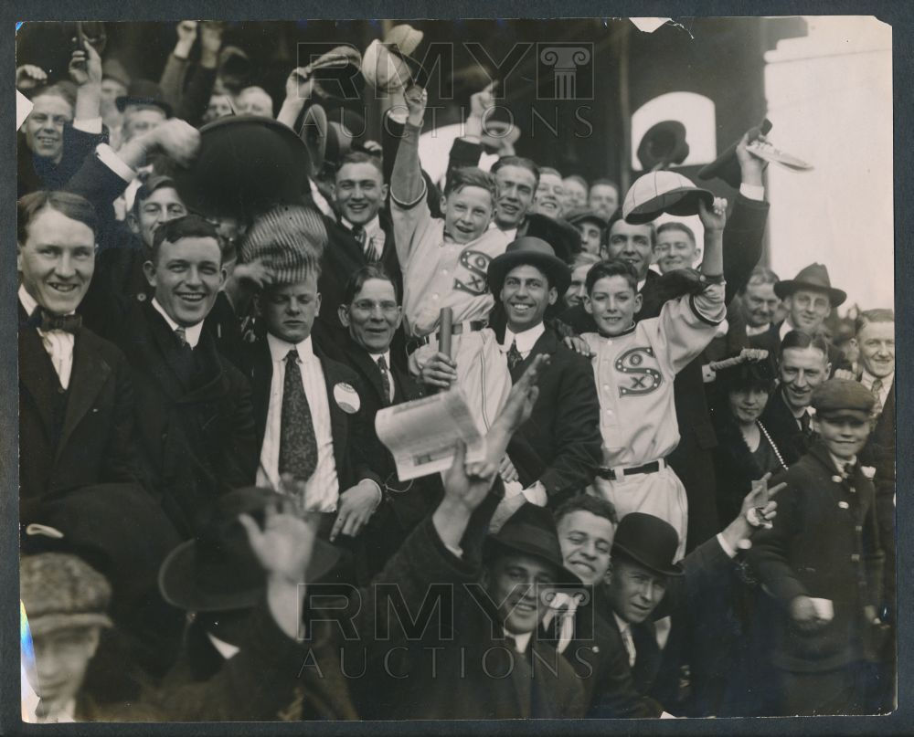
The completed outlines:
[[[675,375],[711,342],[724,320],[721,234],[726,200],[701,204],[705,290],[664,304],[660,316],[634,321],[641,309],[638,275],[620,260],[603,261],[587,275],[585,309],[599,332],[590,345],[600,395],[603,465],[590,493],[609,500],[622,519],[632,511],[668,521],[679,535],[676,559],[685,554],[688,504],[685,487],[664,458],[679,443],[673,398]]]

